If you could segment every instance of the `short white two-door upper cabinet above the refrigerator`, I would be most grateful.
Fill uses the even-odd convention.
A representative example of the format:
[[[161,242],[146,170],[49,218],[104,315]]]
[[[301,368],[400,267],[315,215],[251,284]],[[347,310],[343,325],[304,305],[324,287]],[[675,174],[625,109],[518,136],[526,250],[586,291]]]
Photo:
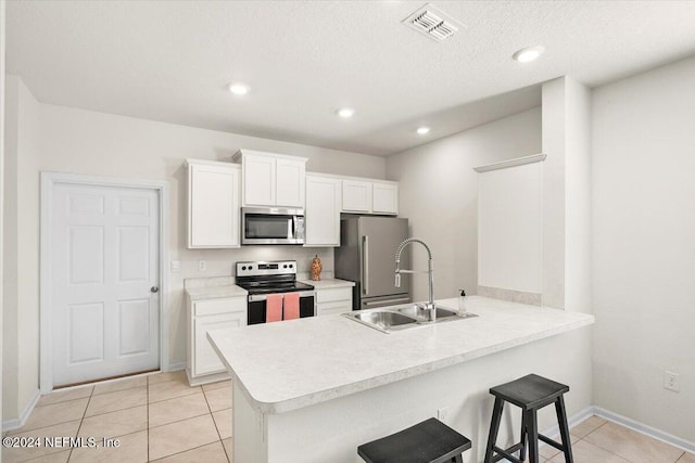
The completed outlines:
[[[343,213],[399,214],[399,184],[389,181],[343,179]]]

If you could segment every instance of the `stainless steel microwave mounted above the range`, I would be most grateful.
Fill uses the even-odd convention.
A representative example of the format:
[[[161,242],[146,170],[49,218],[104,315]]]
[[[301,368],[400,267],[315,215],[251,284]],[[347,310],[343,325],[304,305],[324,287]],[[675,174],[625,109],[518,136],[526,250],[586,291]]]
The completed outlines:
[[[304,244],[304,209],[242,207],[241,244]]]

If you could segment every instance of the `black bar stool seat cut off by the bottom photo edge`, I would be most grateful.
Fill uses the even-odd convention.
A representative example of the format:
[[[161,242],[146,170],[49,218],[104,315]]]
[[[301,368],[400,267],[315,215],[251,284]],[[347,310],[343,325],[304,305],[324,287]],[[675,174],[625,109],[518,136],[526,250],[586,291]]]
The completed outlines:
[[[463,463],[470,440],[433,417],[357,447],[367,463]]]

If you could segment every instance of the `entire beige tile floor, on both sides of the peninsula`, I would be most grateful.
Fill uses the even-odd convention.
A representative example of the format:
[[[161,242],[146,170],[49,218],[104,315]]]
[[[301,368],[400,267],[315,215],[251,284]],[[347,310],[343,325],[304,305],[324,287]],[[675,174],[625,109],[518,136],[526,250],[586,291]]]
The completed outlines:
[[[693,453],[598,416],[570,433],[576,463],[695,463]],[[59,391],[43,396],[9,435],[108,437],[119,447],[3,448],[4,463],[231,462],[231,384],[189,387],[186,373],[174,372]],[[544,463],[565,461],[547,446],[541,455]]]

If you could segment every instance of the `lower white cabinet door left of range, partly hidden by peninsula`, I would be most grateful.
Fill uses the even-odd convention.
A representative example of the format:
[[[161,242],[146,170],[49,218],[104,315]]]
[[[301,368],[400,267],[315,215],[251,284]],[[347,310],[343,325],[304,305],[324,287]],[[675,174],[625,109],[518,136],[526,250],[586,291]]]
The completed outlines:
[[[218,316],[203,316],[193,319],[194,330],[194,358],[193,376],[225,371],[219,357],[207,340],[207,330],[219,330],[242,326],[245,312],[232,312]]]

